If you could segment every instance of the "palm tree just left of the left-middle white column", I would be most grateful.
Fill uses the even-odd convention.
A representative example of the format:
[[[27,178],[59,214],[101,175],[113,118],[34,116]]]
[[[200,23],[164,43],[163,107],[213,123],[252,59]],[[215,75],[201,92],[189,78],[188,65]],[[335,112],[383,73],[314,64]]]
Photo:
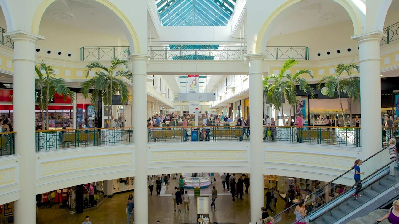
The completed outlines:
[[[97,61],[92,61],[85,67],[85,77],[89,77],[89,73],[92,69],[99,70],[95,72],[95,77],[82,84],[82,94],[85,98],[89,98],[89,91],[92,90],[90,94],[91,104],[96,105],[99,96],[101,96],[104,105],[108,106],[108,117],[111,127],[113,122],[112,96],[120,94],[121,102],[126,103],[128,102],[130,95],[129,89],[123,78],[132,81],[132,73],[130,70],[124,70],[120,67],[125,67],[127,69],[128,62],[119,59],[112,59],[111,66],[105,67]]]

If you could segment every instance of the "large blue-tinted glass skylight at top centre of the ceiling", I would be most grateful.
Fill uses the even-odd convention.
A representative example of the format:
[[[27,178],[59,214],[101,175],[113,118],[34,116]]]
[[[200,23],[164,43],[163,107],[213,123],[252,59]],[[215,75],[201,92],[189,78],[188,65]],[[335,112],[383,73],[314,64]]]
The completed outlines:
[[[163,26],[227,26],[237,0],[155,0]]]

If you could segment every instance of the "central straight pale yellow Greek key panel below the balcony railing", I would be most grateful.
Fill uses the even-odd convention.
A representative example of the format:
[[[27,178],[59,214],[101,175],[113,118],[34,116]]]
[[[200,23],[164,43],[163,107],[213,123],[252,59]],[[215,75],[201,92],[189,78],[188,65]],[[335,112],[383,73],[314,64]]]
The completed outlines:
[[[150,151],[150,163],[173,161],[240,161],[247,162],[247,150],[156,150]]]

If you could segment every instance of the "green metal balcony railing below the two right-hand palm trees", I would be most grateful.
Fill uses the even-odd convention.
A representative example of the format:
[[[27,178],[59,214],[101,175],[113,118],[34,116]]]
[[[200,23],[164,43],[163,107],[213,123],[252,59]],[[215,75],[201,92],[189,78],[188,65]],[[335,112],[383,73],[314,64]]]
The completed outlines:
[[[345,127],[264,127],[263,141],[326,144],[360,147],[360,128]]]

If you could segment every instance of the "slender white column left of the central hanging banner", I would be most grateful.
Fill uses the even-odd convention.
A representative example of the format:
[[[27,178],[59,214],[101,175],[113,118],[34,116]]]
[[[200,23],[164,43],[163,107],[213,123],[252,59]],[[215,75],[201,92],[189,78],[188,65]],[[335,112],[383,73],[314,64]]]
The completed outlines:
[[[134,204],[137,204],[134,223],[148,224],[148,190],[147,190],[147,122],[146,118],[146,78],[147,60],[150,55],[130,55],[133,73],[133,139],[136,144],[134,177]]]

